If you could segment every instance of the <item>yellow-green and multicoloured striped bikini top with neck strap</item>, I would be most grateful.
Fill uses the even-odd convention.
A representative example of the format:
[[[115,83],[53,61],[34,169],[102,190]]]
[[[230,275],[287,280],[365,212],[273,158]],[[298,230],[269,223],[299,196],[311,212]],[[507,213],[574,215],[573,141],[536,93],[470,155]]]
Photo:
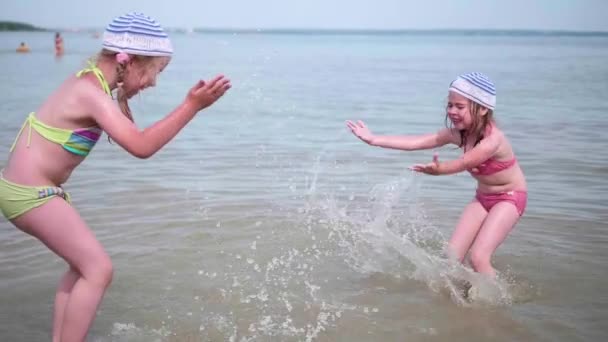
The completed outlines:
[[[95,65],[89,63],[89,67],[79,71],[76,76],[80,77],[81,75],[87,72],[92,72],[93,74],[95,74],[105,93],[112,96],[110,87],[108,86],[108,83],[103,77],[101,70],[99,70],[99,68],[97,68]],[[23,123],[21,130],[19,130],[19,133],[17,134],[17,138],[15,138],[13,146],[11,146],[11,152],[15,148],[17,139],[19,139],[19,136],[21,135],[26,126],[29,127],[27,137],[28,147],[30,146],[30,139],[32,136],[33,128],[38,134],[40,134],[40,136],[51,142],[61,145],[65,150],[79,156],[88,155],[101,137],[101,133],[103,132],[102,129],[98,126],[77,128],[74,130],[52,127],[38,120],[38,118],[36,118],[35,113],[30,113],[30,115],[28,115],[27,119]]]

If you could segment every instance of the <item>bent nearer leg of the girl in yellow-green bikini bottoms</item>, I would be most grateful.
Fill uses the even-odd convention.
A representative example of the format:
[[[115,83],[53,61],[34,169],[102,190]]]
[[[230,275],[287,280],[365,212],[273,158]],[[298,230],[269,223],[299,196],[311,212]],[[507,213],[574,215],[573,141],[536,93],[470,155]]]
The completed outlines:
[[[61,342],[82,342],[112,280],[112,263],[78,212],[61,198],[19,216],[13,223],[42,241],[77,270],[63,310]]]

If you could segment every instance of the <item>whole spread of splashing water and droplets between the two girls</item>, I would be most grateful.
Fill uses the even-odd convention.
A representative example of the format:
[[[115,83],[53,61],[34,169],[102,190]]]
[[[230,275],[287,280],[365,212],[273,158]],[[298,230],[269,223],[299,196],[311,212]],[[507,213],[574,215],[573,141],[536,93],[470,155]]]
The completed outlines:
[[[379,314],[378,307],[356,302],[357,291],[374,291],[362,280],[378,274],[426,284],[429,296],[447,296],[459,306],[512,302],[504,281],[490,282],[444,257],[446,239],[417,198],[419,177],[407,172],[369,191],[360,184],[352,189],[327,171],[337,160],[323,151],[308,172],[287,169],[297,204],[276,203],[284,221],[254,219],[254,240],[222,250],[221,268],[196,270],[201,283],[213,284],[195,297],[204,307],[192,315],[174,312],[163,331],[183,337],[180,326],[195,322],[189,334],[203,340],[314,341],[346,315],[373,320]],[[468,297],[466,284],[473,287]],[[351,285],[350,298],[336,290]]]

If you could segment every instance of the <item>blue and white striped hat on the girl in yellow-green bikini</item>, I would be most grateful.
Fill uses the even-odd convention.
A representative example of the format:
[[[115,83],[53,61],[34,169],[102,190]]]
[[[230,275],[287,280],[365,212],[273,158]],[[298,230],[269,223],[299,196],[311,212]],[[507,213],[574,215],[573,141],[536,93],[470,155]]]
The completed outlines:
[[[139,56],[171,56],[169,36],[159,23],[143,13],[127,13],[115,18],[103,34],[103,47],[114,52]]]

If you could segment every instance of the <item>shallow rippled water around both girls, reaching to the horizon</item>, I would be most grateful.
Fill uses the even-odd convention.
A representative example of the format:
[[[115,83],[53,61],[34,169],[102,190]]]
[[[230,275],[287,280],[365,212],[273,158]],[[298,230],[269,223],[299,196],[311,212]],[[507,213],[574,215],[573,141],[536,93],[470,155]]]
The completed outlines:
[[[0,153],[99,41],[3,33]],[[608,37],[174,34],[141,127],[198,78],[233,89],[150,160],[102,139],[66,184],[113,259],[92,341],[599,341],[608,336]],[[442,258],[474,194],[465,174],[413,175],[432,151],[377,133],[443,125],[447,84],[479,70],[529,185],[495,256],[497,284]],[[444,148],[442,158],[458,151]],[[6,157],[1,159],[3,166]],[[63,261],[0,222],[0,337],[48,340]],[[461,283],[477,287],[473,301]]]

